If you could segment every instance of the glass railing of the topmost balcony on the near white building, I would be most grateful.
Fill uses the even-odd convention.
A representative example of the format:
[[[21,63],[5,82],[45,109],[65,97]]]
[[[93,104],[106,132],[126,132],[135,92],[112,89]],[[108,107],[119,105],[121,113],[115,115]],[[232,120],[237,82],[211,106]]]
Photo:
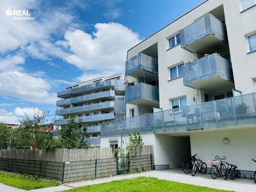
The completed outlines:
[[[208,35],[213,35],[215,37],[214,40],[218,39],[219,42],[225,42],[226,44],[228,43],[227,29],[225,24],[211,15],[211,13],[180,30],[180,46],[184,49],[197,52],[198,49],[200,49],[200,47],[198,47],[198,43],[200,43],[198,40]],[[211,40],[212,39],[213,38],[211,38]],[[196,44],[195,47],[191,45],[194,42]],[[207,42],[204,41],[202,44],[207,44]]]

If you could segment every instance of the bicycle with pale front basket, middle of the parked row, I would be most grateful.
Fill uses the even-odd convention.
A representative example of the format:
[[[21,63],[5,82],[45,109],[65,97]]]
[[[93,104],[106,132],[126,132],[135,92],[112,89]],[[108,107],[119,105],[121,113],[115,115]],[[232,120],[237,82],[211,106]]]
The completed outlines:
[[[209,160],[209,164],[212,164],[212,168],[211,168],[212,179],[216,179],[218,175],[221,175],[221,176],[225,175],[226,166],[222,161],[225,159],[226,159],[225,156],[223,157],[216,156],[214,160]],[[218,160],[220,160],[220,163],[218,163]]]

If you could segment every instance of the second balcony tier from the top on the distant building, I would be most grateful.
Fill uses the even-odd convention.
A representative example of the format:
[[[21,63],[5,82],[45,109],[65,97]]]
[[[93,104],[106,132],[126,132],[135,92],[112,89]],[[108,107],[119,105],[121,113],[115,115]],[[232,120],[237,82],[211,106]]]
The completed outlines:
[[[56,105],[58,107],[65,107],[68,104],[70,105],[72,104],[83,104],[85,101],[87,102],[92,102],[93,100],[97,100],[97,99],[115,99],[115,91],[114,90],[109,90],[106,92],[99,92],[99,93],[92,93],[89,95],[83,95],[83,96],[78,96],[78,97],[72,97],[69,99],[61,99],[61,100],[57,100]]]

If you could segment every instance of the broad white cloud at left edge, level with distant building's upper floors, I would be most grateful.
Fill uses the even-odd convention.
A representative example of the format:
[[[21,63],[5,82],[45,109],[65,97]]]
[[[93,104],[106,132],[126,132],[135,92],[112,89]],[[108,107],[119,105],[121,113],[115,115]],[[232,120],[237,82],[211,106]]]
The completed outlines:
[[[40,77],[29,76],[21,72],[0,73],[0,94],[13,98],[56,104],[56,93],[49,93],[50,84]]]

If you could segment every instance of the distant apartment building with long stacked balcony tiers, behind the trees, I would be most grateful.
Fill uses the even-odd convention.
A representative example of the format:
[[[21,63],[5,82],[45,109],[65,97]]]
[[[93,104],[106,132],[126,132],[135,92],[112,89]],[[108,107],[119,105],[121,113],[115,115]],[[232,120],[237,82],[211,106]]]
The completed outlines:
[[[81,118],[87,124],[86,140],[99,146],[100,124],[125,116],[124,76],[99,77],[59,91],[56,115],[61,120],[55,125],[68,124],[70,116]]]

